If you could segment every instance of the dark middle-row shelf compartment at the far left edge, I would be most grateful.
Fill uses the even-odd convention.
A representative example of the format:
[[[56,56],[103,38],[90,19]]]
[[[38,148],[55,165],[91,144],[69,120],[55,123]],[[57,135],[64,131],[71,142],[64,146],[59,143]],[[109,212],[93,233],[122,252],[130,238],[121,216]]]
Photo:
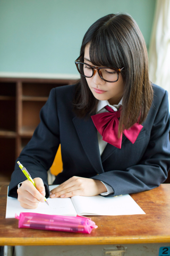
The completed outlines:
[[[16,103],[15,101],[0,100],[0,130],[16,130]]]

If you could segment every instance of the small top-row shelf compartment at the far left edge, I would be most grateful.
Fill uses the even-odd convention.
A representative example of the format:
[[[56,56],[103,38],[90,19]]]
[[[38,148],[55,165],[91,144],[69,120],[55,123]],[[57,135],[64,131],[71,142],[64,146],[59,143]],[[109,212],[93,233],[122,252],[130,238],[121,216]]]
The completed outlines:
[[[16,83],[0,82],[0,95],[16,97]]]

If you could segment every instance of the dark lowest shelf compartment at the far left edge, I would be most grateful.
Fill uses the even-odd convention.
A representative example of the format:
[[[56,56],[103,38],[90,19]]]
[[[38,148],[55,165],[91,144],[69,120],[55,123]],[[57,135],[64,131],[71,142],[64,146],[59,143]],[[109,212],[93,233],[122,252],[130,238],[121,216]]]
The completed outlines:
[[[11,174],[15,165],[15,139],[0,138],[0,180],[1,182],[10,182]]]

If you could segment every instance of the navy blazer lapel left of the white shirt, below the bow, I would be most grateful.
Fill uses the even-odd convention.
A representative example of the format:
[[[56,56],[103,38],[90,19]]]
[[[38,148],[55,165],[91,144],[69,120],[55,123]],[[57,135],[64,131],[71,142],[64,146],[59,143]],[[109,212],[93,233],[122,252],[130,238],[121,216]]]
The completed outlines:
[[[77,130],[82,147],[97,173],[103,173],[103,166],[99,152],[97,130],[91,118],[73,118],[75,129]]]

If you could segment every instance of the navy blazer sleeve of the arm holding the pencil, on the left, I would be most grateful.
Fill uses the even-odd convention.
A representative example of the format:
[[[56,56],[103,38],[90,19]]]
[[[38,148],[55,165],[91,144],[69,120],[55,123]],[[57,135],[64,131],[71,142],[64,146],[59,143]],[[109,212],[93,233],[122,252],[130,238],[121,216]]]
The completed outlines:
[[[24,147],[17,161],[26,167],[32,179],[39,177],[43,179],[46,197],[49,196],[47,171],[52,166],[58,146],[60,145],[59,121],[57,116],[56,94],[52,89],[49,98],[40,111],[40,124],[28,145]],[[11,176],[8,196],[17,198],[17,185],[27,178],[15,162],[15,169]]]

